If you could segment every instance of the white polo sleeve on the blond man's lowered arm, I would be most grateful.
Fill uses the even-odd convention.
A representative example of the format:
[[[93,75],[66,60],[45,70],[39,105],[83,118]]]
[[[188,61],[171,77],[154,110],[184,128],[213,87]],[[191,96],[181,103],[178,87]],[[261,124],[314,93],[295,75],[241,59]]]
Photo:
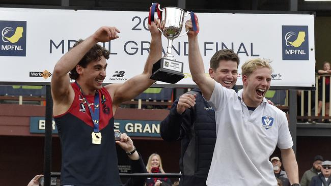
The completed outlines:
[[[288,149],[293,146],[292,136],[288,128],[288,121],[285,112],[279,114],[278,144],[280,149]]]

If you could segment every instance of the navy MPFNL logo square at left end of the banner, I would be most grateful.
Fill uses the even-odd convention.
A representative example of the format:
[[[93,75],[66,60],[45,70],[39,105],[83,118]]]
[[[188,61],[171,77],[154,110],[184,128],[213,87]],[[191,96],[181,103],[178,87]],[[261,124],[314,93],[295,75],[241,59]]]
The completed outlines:
[[[0,56],[25,56],[26,21],[0,21]]]

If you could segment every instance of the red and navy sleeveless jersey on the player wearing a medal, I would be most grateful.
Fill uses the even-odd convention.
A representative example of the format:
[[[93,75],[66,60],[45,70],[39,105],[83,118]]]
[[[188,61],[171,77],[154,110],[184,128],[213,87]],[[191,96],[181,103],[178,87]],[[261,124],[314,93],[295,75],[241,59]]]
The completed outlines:
[[[101,144],[92,144],[94,95],[83,96],[76,83],[71,84],[75,98],[69,110],[54,116],[62,148],[61,185],[122,185],[114,139],[112,99],[103,87],[99,91],[99,131]],[[88,100],[85,102],[84,98]]]

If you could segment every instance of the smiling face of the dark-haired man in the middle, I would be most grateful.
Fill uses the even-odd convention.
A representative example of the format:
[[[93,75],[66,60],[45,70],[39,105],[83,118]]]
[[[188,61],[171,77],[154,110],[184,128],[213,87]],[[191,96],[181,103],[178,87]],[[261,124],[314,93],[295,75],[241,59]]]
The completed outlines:
[[[220,60],[216,70],[210,68],[209,75],[222,86],[231,89],[237,82],[237,62],[233,60]]]

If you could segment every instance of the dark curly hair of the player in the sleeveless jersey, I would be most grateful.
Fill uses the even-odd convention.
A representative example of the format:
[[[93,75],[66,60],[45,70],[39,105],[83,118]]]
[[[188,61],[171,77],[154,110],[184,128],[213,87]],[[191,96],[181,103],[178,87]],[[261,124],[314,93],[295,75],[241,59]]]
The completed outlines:
[[[79,45],[82,41],[82,39],[79,39],[76,41],[76,43],[73,45],[72,48]],[[87,65],[91,61],[99,61],[101,60],[101,56],[104,56],[104,58],[109,59],[109,51],[105,49],[104,47],[100,46],[99,44],[95,44],[85,55],[82,57],[77,65],[80,65],[83,68],[86,68]],[[79,74],[76,71],[76,67],[74,67],[69,72],[70,79],[76,80],[78,78]]]

